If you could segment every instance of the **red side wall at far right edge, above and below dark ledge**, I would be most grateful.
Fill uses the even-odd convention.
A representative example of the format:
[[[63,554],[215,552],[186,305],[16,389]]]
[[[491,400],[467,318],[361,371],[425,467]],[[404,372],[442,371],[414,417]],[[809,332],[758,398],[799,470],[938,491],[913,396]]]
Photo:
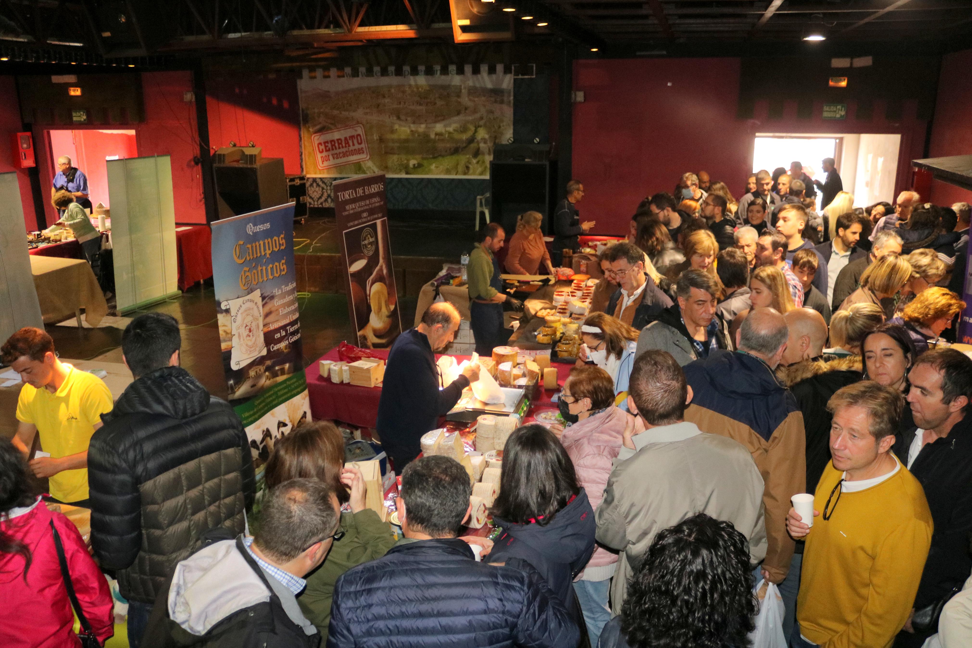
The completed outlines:
[[[929,157],[972,153],[972,50],[956,51],[942,58],[942,74],[931,126]],[[972,202],[972,191],[935,181],[931,200],[939,205]]]

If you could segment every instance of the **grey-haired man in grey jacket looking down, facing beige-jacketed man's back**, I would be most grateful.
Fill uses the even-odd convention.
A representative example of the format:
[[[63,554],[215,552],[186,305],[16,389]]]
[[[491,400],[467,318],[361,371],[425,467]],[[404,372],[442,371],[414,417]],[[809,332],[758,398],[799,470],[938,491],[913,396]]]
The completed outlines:
[[[684,366],[713,351],[732,349],[729,326],[715,313],[718,281],[704,270],[685,270],[676,284],[678,303],[642,328],[638,358],[648,349],[667,351]]]

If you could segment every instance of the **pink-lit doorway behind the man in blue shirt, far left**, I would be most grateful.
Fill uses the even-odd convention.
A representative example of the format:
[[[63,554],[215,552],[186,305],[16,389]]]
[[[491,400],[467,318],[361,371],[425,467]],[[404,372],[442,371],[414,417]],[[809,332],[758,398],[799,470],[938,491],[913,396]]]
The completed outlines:
[[[108,202],[108,160],[138,157],[134,130],[49,130],[51,175],[57,173],[57,158],[67,155],[87,176],[91,204]]]

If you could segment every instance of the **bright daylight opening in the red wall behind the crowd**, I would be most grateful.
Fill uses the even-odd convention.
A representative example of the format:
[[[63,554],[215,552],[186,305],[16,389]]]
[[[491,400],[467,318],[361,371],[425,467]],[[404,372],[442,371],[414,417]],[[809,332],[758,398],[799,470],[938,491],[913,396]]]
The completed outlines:
[[[855,207],[886,200],[894,202],[901,135],[881,133],[760,133],[753,147],[753,171],[777,167],[789,169],[790,162],[803,164],[804,172],[823,182],[820,160],[833,157],[845,191],[854,195]],[[817,191],[817,203],[819,203]],[[818,209],[826,205],[817,204]]]

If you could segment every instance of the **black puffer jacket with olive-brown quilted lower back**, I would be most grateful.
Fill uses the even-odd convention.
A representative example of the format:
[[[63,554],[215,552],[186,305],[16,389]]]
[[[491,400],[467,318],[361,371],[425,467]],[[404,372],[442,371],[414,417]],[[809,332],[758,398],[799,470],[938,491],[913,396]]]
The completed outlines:
[[[122,597],[152,603],[203,533],[243,532],[255,492],[246,432],[181,367],[136,380],[102,422],[87,451],[91,546]]]

